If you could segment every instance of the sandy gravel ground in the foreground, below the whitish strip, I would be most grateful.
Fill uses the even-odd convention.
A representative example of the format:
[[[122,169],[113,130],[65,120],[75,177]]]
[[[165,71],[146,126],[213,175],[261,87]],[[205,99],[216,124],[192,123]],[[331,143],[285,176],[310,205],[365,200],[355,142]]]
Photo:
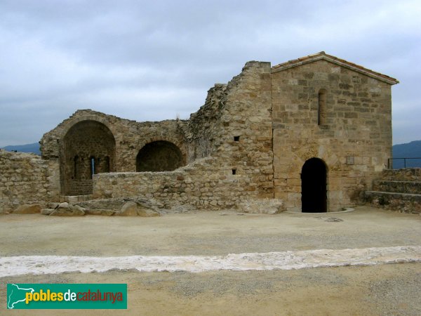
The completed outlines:
[[[420,263],[302,270],[106,272],[23,275],[6,284],[127,283],[128,310],[60,310],[60,315],[420,315]],[[0,310],[0,314],[2,311]],[[8,310],[8,315],[57,310]]]

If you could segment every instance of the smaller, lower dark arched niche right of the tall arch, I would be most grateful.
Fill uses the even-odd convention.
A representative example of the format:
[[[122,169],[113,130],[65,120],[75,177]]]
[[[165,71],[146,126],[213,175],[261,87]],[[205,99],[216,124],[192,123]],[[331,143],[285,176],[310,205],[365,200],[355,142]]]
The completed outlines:
[[[182,152],[177,145],[166,140],[148,143],[136,157],[136,171],[173,171],[183,166]]]

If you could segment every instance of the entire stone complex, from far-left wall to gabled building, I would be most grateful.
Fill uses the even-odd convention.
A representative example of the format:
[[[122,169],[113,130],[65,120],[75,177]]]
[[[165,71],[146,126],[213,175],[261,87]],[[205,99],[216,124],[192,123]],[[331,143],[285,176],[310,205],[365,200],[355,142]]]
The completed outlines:
[[[0,152],[0,209],[79,204],[92,194],[196,209],[281,199],[298,211],[309,159],[326,166],[326,208],[354,206],[392,154],[396,83],[321,52],[274,67],[247,62],[210,88],[188,120],[137,122],[78,110],[43,136],[42,159]],[[121,211],[123,204],[87,209]]]

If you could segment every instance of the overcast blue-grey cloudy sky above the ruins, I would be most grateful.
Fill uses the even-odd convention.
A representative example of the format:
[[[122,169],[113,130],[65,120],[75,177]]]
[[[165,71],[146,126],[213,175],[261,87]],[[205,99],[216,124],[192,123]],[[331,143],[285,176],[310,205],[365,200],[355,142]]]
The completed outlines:
[[[420,0],[0,0],[0,147],[77,109],[187,119],[246,61],[319,51],[399,79],[393,142],[421,140],[420,17]]]

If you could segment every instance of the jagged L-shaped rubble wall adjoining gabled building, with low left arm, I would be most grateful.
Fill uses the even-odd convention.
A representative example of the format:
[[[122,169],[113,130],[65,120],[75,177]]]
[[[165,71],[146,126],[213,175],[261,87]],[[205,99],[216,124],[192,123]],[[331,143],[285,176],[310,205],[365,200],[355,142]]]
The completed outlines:
[[[189,159],[198,160],[176,171],[99,174],[94,198],[154,197],[199,209],[272,199],[270,69],[269,62],[248,62],[227,85],[210,89],[206,104],[183,126]]]

